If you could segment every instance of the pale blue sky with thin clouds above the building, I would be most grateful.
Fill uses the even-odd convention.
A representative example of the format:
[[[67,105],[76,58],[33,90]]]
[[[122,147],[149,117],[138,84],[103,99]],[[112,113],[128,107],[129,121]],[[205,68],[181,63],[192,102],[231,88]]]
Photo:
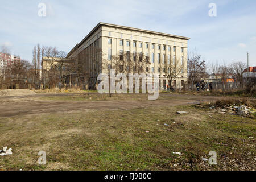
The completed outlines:
[[[47,5],[47,16],[38,16],[38,4]],[[208,15],[216,3],[217,17]],[[191,38],[207,61],[246,62],[256,65],[256,1],[246,0],[130,0],[130,1],[14,1],[0,0],[0,46],[23,59],[32,59],[40,43],[69,52],[98,22],[113,23]]]

